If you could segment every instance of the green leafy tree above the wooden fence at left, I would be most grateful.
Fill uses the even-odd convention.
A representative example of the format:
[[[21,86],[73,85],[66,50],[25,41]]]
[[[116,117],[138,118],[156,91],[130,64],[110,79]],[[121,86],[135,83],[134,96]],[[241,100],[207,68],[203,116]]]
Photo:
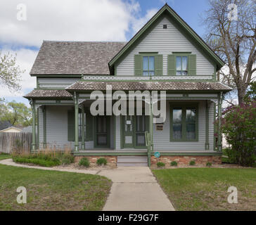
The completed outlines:
[[[24,103],[12,101],[2,105],[4,105],[4,111],[0,113],[1,121],[8,121],[13,125],[19,124],[23,127],[32,124],[32,109],[28,108]]]

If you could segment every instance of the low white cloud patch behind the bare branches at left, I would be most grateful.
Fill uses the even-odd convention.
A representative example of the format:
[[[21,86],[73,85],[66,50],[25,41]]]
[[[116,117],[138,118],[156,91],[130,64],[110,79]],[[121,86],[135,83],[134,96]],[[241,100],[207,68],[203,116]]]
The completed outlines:
[[[10,49],[3,49],[2,53],[10,52],[13,56],[17,53],[17,65],[20,66],[21,70],[25,70],[21,78],[22,89],[20,91],[11,92],[5,86],[1,86],[0,96],[12,97],[12,96],[23,96],[27,94],[27,89],[34,89],[36,87],[36,78],[30,77],[30,70],[34,63],[34,59],[37,57],[38,51],[32,51],[30,49],[20,49],[18,51],[12,51]]]

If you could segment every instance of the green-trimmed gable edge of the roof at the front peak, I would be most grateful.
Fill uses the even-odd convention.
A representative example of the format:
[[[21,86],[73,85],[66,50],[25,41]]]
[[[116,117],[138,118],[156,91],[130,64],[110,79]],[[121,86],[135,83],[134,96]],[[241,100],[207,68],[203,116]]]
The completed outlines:
[[[208,46],[203,39],[196,34],[196,32],[168,5],[165,4],[165,6],[162,6],[160,10],[155,13],[153,18],[144,25],[139,32],[137,32],[132,39],[127,42],[127,44],[110,60],[108,65],[110,66],[110,70],[113,70],[113,65],[117,62],[119,58],[121,58],[129,49],[132,49],[132,46],[136,43],[136,41],[139,41],[139,39],[143,36],[145,32],[151,29],[151,25],[155,23],[158,18],[160,18],[162,15],[168,15],[170,18],[172,18],[173,23],[177,23],[179,25],[179,28],[186,34],[187,37],[190,37],[193,43],[196,43],[202,51],[204,51],[207,56],[216,63],[217,70],[222,68],[222,66],[225,65],[224,61],[217,56],[217,54],[212,51],[210,46]]]

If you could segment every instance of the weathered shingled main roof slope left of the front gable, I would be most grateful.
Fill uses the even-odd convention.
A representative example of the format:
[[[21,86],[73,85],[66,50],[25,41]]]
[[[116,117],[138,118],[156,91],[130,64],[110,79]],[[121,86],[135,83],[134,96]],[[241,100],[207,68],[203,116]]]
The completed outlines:
[[[30,75],[109,75],[108,62],[126,42],[43,41]]]

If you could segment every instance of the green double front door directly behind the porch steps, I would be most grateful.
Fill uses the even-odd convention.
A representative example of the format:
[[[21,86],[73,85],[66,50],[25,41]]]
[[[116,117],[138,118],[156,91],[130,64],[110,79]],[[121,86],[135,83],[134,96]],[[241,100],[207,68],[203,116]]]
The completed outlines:
[[[148,116],[122,116],[122,148],[146,148],[146,130],[148,131]]]

